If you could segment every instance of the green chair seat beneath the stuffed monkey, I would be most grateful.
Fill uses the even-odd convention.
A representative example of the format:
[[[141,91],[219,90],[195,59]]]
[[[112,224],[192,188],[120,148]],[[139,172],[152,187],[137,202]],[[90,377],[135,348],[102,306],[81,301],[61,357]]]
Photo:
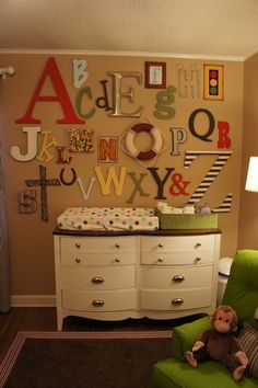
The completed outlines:
[[[155,388],[257,388],[257,380],[249,376],[236,384],[231,372],[214,361],[203,362],[196,369],[175,358],[160,361],[154,365],[152,381]]]

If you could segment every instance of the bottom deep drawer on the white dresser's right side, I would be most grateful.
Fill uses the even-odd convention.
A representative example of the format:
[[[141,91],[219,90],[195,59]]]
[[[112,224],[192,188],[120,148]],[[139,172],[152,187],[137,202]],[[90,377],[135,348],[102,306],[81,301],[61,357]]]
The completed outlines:
[[[211,288],[160,290],[142,289],[140,308],[144,310],[188,310],[211,305]]]

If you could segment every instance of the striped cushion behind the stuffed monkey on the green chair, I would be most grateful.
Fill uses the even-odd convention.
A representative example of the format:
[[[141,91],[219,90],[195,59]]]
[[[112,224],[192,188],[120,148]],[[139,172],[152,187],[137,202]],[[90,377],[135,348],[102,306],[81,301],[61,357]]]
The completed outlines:
[[[258,379],[258,330],[245,322],[239,342],[249,360],[248,373]]]

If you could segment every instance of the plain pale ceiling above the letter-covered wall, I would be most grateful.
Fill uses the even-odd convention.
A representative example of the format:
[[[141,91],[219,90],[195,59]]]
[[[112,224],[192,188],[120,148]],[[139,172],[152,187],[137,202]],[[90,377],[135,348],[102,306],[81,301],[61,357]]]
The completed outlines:
[[[0,52],[16,49],[245,59],[258,0],[0,0]]]

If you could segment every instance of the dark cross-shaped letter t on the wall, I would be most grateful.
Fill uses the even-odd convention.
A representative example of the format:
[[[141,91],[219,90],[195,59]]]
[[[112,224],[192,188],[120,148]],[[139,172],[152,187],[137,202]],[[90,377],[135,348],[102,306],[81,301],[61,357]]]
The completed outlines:
[[[39,186],[42,196],[42,219],[48,221],[47,186],[60,186],[58,179],[47,179],[47,169],[39,164],[39,180],[26,180],[28,187]]]

